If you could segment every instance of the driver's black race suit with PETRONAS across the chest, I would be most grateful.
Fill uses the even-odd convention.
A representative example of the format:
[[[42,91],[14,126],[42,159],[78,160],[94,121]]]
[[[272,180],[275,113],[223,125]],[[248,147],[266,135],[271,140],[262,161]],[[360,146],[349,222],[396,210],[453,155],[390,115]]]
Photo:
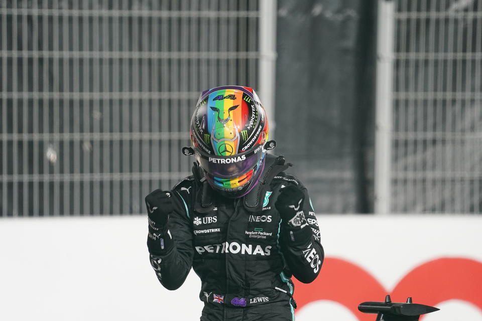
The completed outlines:
[[[196,175],[172,190],[175,210],[159,240],[164,249],[150,249],[151,264],[169,290],[193,267],[202,281],[201,321],[294,319],[291,276],[313,281],[324,253],[306,188],[284,173],[288,166],[282,156],[267,154],[260,183],[243,198],[222,197]],[[305,195],[309,225],[301,229],[282,222],[274,205],[289,185]]]

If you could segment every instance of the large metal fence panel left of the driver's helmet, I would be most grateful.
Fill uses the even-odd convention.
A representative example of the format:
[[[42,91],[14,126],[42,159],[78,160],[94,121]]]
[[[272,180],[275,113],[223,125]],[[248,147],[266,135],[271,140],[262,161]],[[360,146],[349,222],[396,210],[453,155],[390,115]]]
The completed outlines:
[[[258,0],[0,1],[0,216],[145,211],[201,90],[258,87]]]

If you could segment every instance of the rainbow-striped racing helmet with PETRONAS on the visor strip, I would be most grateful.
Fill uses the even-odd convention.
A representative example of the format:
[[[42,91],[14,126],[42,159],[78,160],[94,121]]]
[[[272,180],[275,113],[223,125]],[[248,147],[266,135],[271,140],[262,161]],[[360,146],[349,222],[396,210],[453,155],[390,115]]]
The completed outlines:
[[[190,136],[197,163],[214,190],[236,198],[256,185],[265,164],[269,127],[252,88],[222,86],[202,92]]]

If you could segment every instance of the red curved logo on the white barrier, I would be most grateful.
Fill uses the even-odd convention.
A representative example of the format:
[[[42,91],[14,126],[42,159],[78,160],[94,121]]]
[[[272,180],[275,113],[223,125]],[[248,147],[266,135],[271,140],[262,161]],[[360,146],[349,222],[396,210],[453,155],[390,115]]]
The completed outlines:
[[[320,275],[310,284],[295,280],[298,310],[317,300],[331,300],[344,305],[360,321],[373,321],[373,314],[358,311],[364,301],[405,302],[436,306],[450,299],[470,302],[482,309],[482,263],[463,258],[440,258],[410,271],[392,291],[386,290],[370,273],[342,259],[325,258]]]

